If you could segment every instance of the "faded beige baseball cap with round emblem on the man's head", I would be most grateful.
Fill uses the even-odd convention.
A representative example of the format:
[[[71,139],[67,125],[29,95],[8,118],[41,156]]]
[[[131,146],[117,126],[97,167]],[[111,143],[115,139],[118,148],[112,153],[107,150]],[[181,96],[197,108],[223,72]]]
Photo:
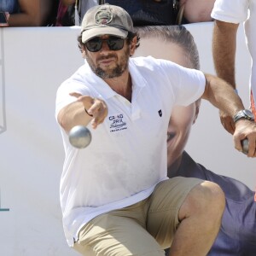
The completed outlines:
[[[102,35],[126,38],[128,32],[134,32],[131,16],[125,9],[108,3],[89,9],[81,25],[83,43]]]

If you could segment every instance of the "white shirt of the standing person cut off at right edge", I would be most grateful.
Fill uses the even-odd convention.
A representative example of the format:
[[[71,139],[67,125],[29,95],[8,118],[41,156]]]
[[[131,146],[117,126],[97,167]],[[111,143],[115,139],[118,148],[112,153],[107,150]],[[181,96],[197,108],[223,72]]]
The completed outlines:
[[[256,102],[256,1],[216,0],[212,18],[235,24],[244,22],[247,46],[253,59],[250,87],[253,91],[253,100]]]

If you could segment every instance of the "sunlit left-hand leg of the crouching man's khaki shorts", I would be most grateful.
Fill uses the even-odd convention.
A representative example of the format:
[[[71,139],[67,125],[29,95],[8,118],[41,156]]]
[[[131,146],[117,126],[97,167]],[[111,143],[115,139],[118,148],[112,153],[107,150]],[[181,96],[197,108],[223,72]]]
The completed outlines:
[[[145,229],[145,205],[147,201],[142,201],[92,219],[79,231],[74,249],[86,256],[164,256],[165,252]]]

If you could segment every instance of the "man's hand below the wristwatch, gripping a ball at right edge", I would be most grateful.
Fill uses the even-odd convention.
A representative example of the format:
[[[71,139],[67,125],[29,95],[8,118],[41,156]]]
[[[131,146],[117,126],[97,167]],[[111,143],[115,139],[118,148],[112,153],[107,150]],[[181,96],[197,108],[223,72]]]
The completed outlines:
[[[236,122],[236,130],[233,135],[235,148],[242,152],[241,141],[247,138],[249,143],[248,157],[256,157],[256,123],[247,119]]]

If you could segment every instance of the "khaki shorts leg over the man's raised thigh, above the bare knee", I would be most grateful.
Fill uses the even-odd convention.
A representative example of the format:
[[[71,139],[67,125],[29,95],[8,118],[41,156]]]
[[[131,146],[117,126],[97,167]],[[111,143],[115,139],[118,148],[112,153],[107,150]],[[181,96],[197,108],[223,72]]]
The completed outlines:
[[[191,189],[203,181],[195,177],[172,177],[159,183],[149,197],[147,230],[160,247],[172,244],[180,223],[178,212]]]

